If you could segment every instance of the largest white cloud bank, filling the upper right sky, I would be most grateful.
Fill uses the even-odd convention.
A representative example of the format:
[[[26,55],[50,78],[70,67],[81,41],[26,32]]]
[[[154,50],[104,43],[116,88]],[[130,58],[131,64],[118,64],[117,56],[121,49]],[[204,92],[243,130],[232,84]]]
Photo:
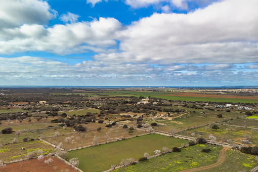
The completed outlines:
[[[256,7],[256,0],[226,0],[188,14],[153,14],[120,32],[121,53],[95,58],[157,64],[257,62]]]

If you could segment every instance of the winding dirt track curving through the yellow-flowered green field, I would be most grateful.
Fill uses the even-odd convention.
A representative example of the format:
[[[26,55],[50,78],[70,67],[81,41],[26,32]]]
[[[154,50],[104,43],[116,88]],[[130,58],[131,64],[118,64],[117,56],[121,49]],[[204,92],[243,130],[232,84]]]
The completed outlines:
[[[201,167],[198,167],[198,168],[185,169],[185,170],[182,170],[181,172],[200,171],[200,170],[205,170],[205,169],[210,169],[210,168],[216,167],[216,166],[222,164],[225,161],[226,153],[227,153],[228,149],[230,149],[230,148],[224,147],[221,150],[221,152],[219,154],[218,161],[216,163],[213,163],[213,164],[208,165],[208,166],[201,166]]]

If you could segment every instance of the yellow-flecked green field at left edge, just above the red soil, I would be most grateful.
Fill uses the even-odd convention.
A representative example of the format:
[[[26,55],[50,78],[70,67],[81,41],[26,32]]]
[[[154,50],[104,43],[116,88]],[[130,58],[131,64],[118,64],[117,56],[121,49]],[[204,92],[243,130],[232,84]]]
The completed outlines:
[[[22,150],[25,148],[25,150]],[[0,160],[9,162],[17,159],[23,159],[29,152],[35,150],[43,151],[43,154],[49,154],[54,151],[54,148],[41,141],[29,141],[0,147]]]

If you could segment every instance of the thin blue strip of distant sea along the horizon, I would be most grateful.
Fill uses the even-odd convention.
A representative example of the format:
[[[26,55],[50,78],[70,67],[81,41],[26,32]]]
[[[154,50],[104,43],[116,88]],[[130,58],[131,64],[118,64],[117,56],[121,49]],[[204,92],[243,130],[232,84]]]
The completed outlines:
[[[65,85],[0,85],[0,88],[217,88],[217,89],[258,89],[258,85],[224,85],[220,87],[189,87],[189,86],[65,86]]]

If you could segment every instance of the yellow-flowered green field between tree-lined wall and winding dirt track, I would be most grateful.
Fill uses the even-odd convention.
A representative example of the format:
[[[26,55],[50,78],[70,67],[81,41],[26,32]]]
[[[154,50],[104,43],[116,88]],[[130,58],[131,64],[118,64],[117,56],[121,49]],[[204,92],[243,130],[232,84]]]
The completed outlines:
[[[211,152],[201,152],[201,150],[205,148],[211,149]],[[213,145],[197,144],[183,148],[181,149],[181,152],[171,152],[163,156],[151,158],[146,162],[118,168],[115,171],[180,171],[200,166],[207,166],[217,162],[221,149],[222,147],[216,147]]]

